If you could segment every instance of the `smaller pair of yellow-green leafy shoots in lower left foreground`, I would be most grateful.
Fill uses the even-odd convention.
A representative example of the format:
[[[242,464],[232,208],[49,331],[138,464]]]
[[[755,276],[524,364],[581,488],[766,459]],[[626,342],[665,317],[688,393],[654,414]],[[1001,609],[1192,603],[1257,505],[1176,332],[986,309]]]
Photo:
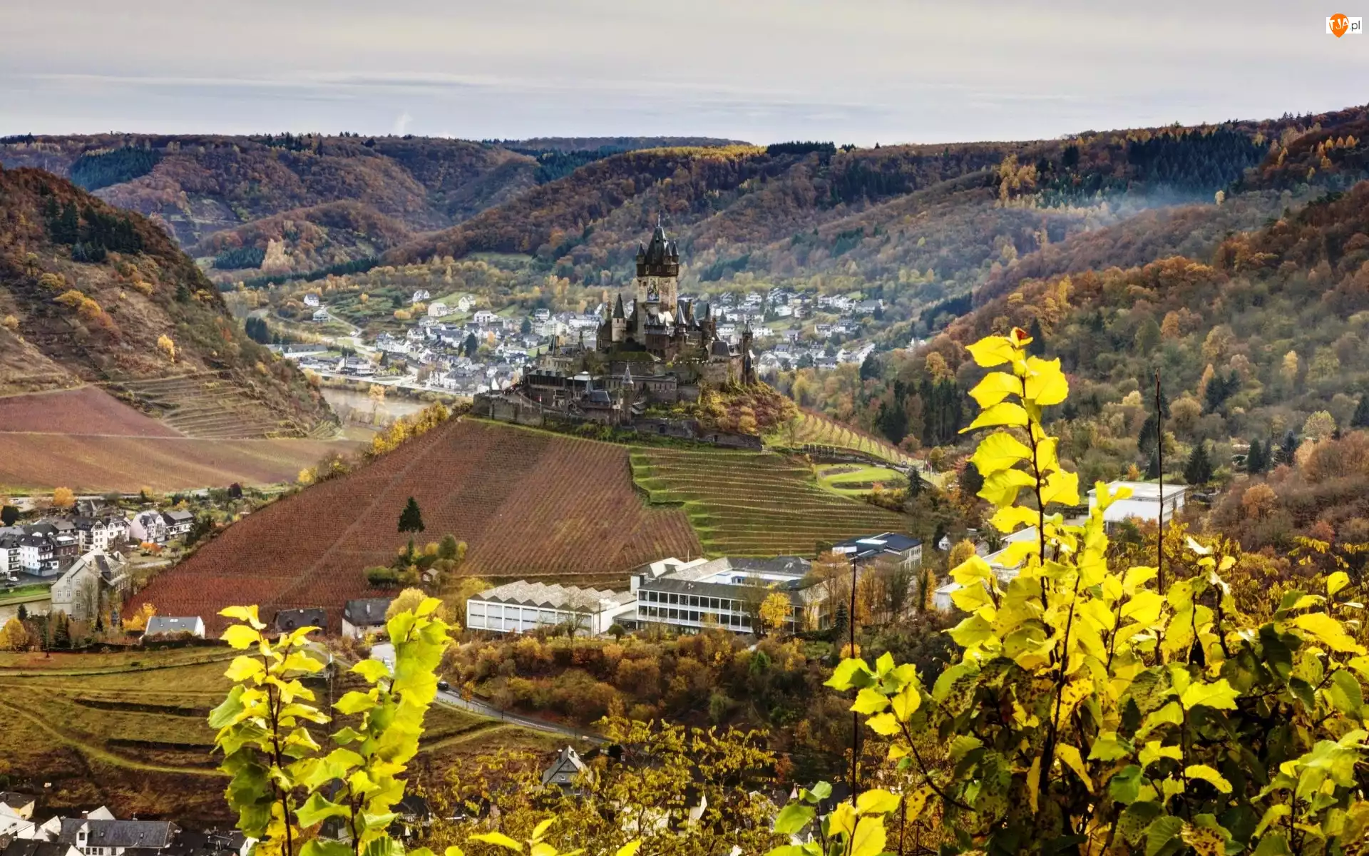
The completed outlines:
[[[304,685],[326,667],[326,652],[308,641],[318,627],[268,638],[256,607],[222,612],[240,623],[223,640],[240,651],[226,677],[234,686],[209,715],[215,746],[229,774],[229,805],[238,829],[256,840],[255,856],[401,856],[389,835],[392,811],[404,797],[402,778],[418,752],[423,716],[437,696],[437,666],[450,644],[448,625],[435,615],[434,597],[394,615],[386,625],[394,644],[394,670],[381,660],[352,667],[370,685],[345,693],[333,715],[316,708]],[[324,753],[307,725],[338,726]],[[342,834],[318,837],[324,820]],[[448,856],[459,856],[449,853]]]

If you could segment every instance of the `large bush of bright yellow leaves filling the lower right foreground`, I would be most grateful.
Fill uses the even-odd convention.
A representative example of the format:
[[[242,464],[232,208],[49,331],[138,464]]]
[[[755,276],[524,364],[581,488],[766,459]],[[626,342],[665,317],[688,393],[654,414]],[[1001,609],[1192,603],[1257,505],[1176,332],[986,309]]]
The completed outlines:
[[[1168,590],[1154,567],[1110,568],[1103,512],[1127,492],[1098,483],[1083,525],[1051,511],[1079,503],[1042,425],[1068,382],[1029,344],[1014,329],[969,347],[1005,367],[971,392],[982,411],[967,430],[994,429],[972,457],[993,525],[1036,527],[1002,563],[1020,570],[999,578],[977,556],[953,570],[964,652],[934,686],[887,655],[838,666],[828,686],[858,690],[852,709],[888,741],[893,786],[823,818],[823,786],[805,792],[772,856],[875,856],[895,820],[931,818],[942,852],[1365,852],[1369,656],[1348,577],[1287,592],[1254,622],[1221,578],[1235,559],[1197,540],[1195,572]]]

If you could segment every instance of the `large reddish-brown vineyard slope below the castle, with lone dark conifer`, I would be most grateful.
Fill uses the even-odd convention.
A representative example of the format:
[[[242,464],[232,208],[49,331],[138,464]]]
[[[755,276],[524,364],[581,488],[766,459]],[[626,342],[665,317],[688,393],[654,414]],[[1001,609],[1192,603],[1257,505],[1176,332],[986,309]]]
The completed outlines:
[[[467,542],[463,574],[622,579],[702,552],[683,511],[649,508],[632,489],[626,446],[464,419],[240,520],[133,605],[200,615],[211,631],[227,605],[255,603],[267,618],[324,607],[337,630],[344,603],[371,594],[361,570],[405,542],[396,523],[411,496],[427,526],[420,540]]]

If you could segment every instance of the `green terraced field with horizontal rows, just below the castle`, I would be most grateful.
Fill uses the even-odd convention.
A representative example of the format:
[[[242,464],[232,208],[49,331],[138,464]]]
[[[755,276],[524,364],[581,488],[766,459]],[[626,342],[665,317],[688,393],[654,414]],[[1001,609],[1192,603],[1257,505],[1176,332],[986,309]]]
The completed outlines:
[[[810,556],[820,544],[902,531],[899,514],[820,488],[772,452],[634,449],[632,477],[653,504],[679,504],[715,556]]]

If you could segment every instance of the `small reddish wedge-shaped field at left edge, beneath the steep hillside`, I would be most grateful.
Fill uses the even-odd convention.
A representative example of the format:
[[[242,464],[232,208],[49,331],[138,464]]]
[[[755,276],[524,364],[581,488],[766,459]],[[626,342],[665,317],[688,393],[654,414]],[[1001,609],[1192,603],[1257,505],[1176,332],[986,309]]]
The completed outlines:
[[[181,437],[164,422],[133,410],[99,386],[0,399],[0,431]]]

